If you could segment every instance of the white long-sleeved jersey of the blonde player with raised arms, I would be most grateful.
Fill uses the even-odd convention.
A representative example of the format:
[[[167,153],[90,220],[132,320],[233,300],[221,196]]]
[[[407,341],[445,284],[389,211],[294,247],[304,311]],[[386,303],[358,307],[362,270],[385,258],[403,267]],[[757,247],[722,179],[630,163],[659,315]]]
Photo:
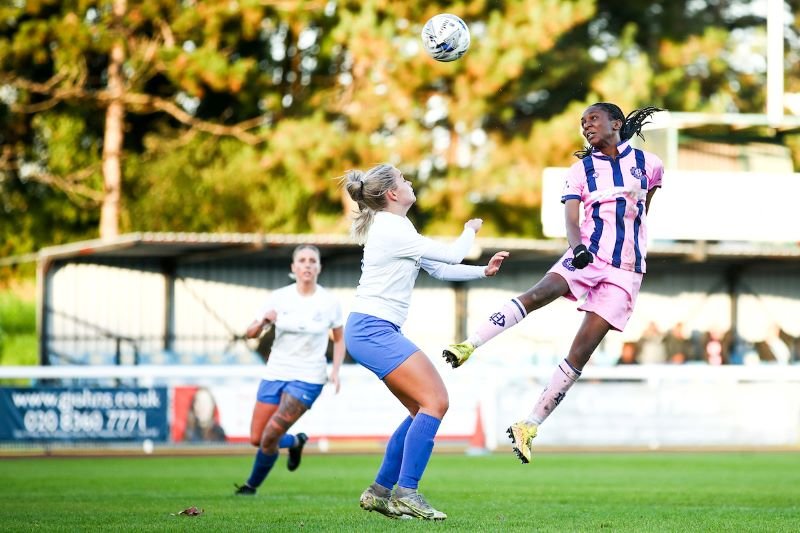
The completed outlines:
[[[448,281],[485,276],[482,266],[457,264],[474,241],[475,232],[465,228],[454,243],[442,244],[417,233],[404,216],[377,212],[364,244],[361,279],[351,311],[402,326],[420,267]]]

